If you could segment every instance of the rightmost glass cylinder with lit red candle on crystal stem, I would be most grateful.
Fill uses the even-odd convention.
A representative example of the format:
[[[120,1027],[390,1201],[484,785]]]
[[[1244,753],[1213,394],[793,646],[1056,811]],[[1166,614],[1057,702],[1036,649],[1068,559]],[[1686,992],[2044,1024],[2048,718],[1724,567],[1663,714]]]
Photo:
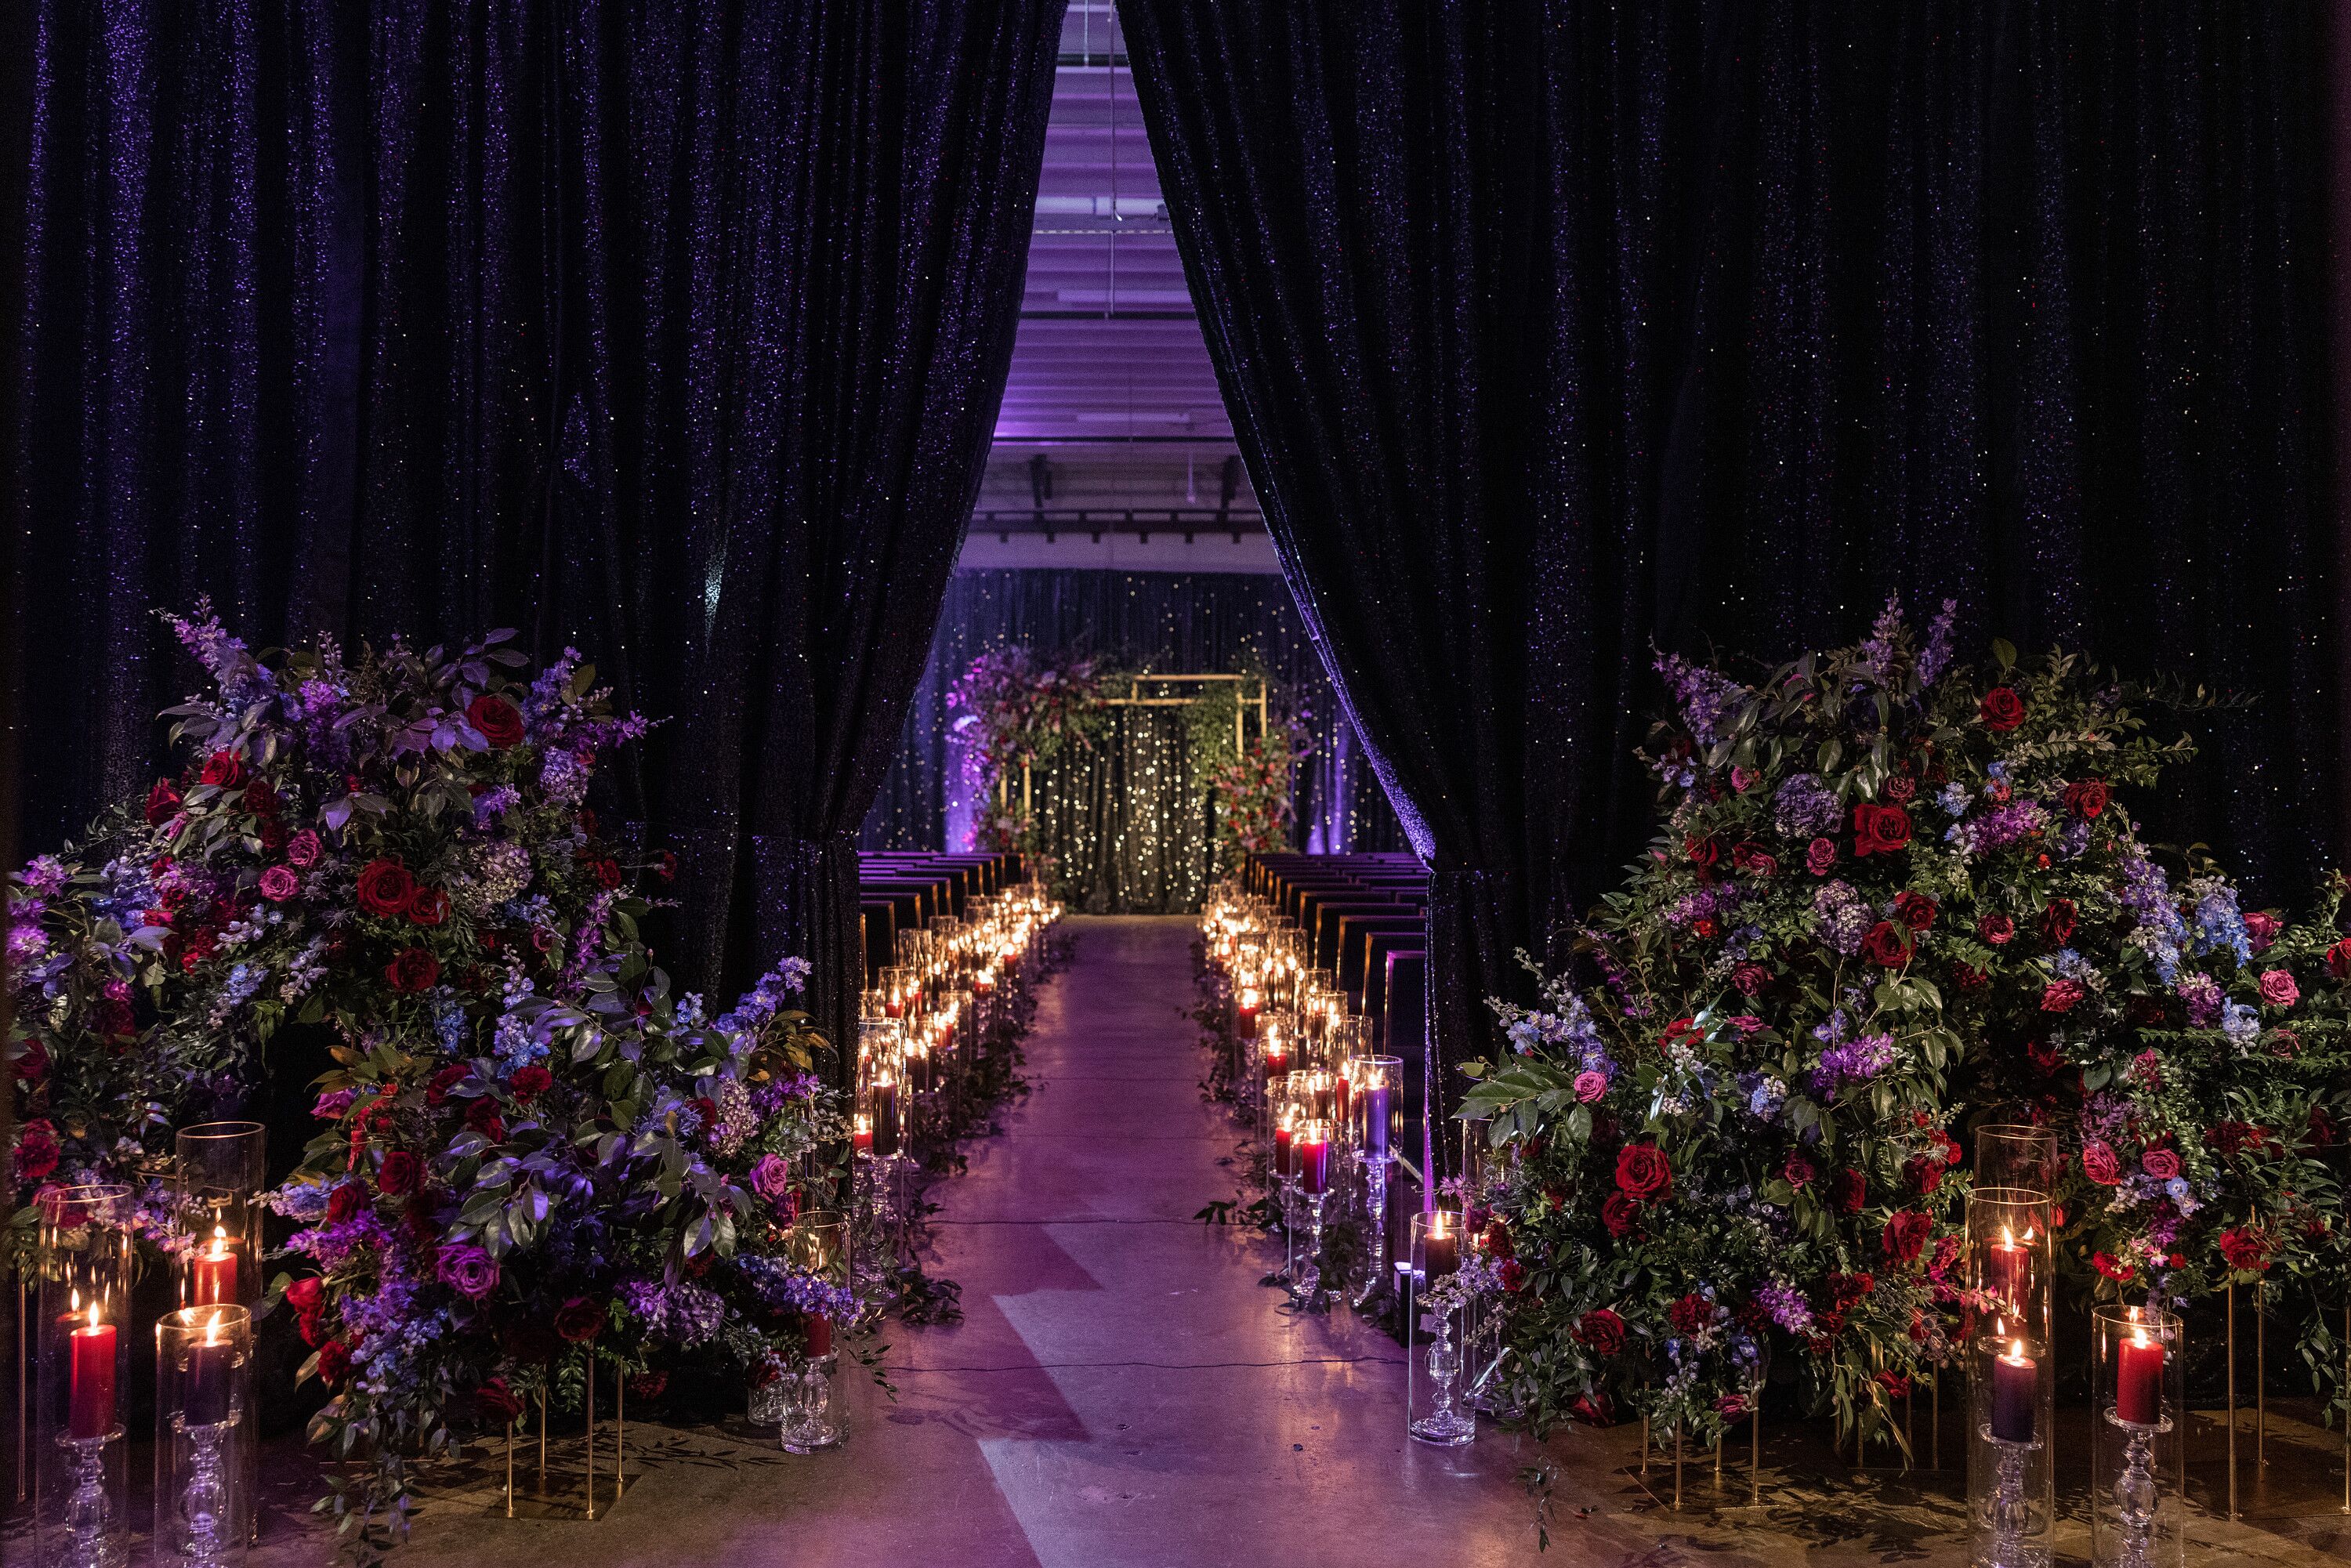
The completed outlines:
[[[2186,1333],[2161,1307],[2090,1312],[2090,1561],[2186,1563]]]

